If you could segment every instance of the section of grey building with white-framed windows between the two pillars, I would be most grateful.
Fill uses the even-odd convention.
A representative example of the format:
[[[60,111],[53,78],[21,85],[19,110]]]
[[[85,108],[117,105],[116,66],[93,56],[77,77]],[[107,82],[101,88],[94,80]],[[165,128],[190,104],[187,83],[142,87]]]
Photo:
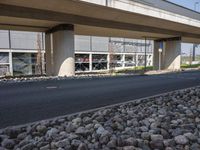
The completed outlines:
[[[153,42],[125,38],[75,36],[75,69],[77,72],[152,66]]]

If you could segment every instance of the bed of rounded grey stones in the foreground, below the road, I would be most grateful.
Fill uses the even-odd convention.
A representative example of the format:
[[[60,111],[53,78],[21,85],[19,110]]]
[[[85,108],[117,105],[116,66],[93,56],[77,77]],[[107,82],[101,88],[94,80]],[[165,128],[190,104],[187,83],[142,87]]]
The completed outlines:
[[[0,150],[199,150],[200,87],[0,130]]]

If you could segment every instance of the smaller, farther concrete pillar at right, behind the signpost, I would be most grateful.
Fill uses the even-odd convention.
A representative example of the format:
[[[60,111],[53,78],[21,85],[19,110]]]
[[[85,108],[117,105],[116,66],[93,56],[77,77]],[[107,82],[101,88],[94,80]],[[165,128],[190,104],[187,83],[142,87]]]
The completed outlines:
[[[155,70],[159,69],[159,51],[160,42],[154,42],[153,66]],[[161,53],[161,69],[179,70],[181,68],[181,40],[167,40],[163,42],[163,51]]]

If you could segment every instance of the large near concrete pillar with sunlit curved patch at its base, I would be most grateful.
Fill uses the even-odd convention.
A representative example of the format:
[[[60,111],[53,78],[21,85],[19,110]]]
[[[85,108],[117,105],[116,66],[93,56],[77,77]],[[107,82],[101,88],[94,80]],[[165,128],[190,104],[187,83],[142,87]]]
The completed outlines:
[[[74,26],[59,25],[47,32],[52,34],[52,65],[49,65],[48,56],[47,65],[54,76],[74,76],[75,59],[74,59]],[[47,68],[48,68],[47,67]]]

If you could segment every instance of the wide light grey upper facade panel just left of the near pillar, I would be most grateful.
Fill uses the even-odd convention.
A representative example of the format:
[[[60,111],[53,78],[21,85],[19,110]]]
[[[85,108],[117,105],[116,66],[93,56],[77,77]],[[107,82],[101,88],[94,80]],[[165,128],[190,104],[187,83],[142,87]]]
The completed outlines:
[[[38,49],[43,48],[42,33],[10,31],[11,47],[13,49]]]

